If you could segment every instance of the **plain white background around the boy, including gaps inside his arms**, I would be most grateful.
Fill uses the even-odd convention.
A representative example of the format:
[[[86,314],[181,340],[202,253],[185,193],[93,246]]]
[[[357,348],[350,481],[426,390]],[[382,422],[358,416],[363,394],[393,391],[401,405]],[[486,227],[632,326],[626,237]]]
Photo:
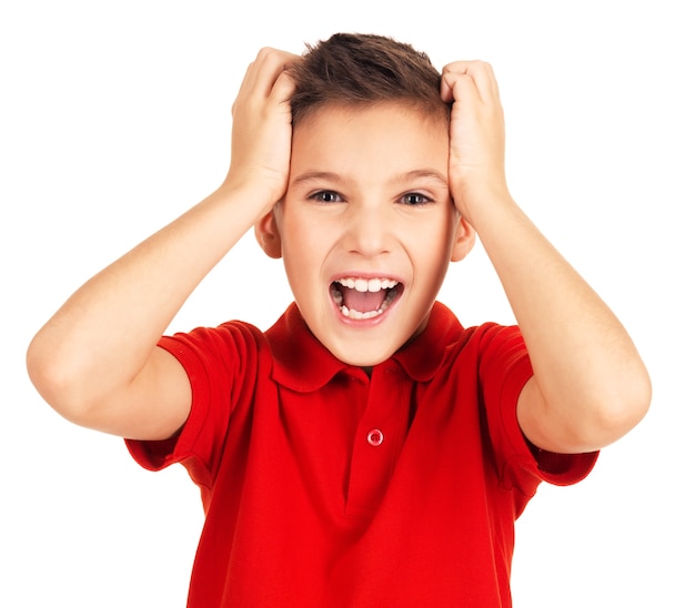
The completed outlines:
[[[235,7],[243,6],[243,9]],[[512,192],[614,308],[654,383],[646,419],[517,525],[517,608],[695,606],[688,2],[3,1],[0,8],[0,605],[183,607],[202,523],[181,467],[141,470],[30,385],[31,336],[89,276],[220,183],[258,48],[334,31],[492,62]],[[194,252],[192,252],[194,254]],[[172,330],[290,302],[252,237]],[[466,325],[512,322],[477,245],[441,294]]]

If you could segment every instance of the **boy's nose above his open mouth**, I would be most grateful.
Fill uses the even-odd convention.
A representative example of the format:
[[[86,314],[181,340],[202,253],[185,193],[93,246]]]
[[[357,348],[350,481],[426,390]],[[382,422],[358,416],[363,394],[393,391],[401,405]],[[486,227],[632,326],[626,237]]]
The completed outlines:
[[[353,204],[345,222],[345,247],[351,253],[375,257],[393,247],[393,217],[387,203]]]

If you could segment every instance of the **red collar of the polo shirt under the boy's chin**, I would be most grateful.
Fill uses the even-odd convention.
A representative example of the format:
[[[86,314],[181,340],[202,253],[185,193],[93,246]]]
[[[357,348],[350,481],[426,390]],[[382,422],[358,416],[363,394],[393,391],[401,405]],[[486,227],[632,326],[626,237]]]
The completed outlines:
[[[436,302],[424,331],[380,365],[394,361],[414,381],[426,382],[445,362],[462,332],[455,315]],[[273,353],[272,377],[292,391],[316,391],[340,372],[356,369],[336,358],[314,337],[295,303],[265,335]]]

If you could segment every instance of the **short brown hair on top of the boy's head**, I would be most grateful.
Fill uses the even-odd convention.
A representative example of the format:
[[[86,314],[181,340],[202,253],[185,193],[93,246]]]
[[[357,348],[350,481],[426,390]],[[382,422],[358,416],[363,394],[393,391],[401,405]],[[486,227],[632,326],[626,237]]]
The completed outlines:
[[[296,85],[291,98],[294,125],[328,103],[404,101],[426,113],[449,115],[440,97],[441,74],[430,58],[392,38],[335,33],[306,44],[291,74]]]

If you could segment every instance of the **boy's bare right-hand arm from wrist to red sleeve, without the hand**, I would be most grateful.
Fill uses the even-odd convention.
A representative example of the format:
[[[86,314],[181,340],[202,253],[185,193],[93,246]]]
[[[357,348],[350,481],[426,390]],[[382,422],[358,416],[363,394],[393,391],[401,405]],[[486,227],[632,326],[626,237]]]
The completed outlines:
[[[469,206],[534,369],[518,417],[530,439],[588,450],[632,428],[651,398],[623,325],[508,196]]]

